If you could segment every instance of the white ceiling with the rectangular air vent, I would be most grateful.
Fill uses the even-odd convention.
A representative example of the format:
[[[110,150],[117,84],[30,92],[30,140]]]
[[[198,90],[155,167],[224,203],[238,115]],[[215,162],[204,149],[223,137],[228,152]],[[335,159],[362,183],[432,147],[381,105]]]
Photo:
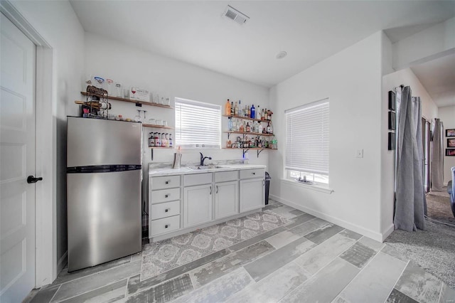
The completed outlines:
[[[376,31],[398,41],[455,14],[455,1],[70,2],[85,31],[265,87]],[[223,18],[228,4],[250,20]]]

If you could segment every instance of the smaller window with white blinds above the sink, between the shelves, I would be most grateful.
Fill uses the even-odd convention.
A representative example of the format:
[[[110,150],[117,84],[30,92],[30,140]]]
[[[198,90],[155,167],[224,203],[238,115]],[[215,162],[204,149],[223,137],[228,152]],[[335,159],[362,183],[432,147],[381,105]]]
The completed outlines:
[[[221,107],[176,98],[176,144],[184,148],[221,147]]]

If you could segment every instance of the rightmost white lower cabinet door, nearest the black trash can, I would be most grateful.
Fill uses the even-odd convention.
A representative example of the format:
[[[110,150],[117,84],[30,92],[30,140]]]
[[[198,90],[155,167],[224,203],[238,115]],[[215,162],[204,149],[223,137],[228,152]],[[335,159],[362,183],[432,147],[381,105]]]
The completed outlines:
[[[240,180],[240,213],[265,206],[264,179]]]

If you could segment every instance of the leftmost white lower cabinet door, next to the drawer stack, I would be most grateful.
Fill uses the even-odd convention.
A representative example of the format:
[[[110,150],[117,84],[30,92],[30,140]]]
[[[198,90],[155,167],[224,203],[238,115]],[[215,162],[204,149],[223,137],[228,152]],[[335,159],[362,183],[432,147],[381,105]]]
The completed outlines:
[[[183,193],[183,225],[190,227],[212,220],[213,186],[185,187]]]

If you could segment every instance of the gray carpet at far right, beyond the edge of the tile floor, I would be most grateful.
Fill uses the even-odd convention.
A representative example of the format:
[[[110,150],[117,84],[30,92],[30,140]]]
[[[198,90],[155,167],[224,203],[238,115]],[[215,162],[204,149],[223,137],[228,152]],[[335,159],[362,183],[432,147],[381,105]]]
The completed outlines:
[[[455,223],[443,193],[427,195],[427,205],[429,217]],[[455,228],[429,220],[426,223],[427,230],[395,230],[385,243],[455,289]]]

